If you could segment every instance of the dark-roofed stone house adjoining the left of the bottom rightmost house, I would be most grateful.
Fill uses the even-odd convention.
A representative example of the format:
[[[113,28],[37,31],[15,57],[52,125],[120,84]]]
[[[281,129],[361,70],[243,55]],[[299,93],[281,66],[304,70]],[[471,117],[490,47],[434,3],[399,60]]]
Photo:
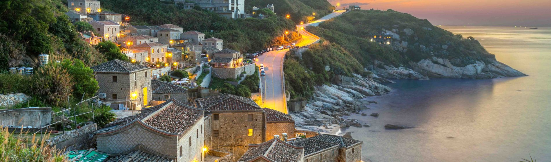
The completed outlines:
[[[290,142],[295,146],[304,147],[304,161],[306,162],[333,162],[338,161],[339,144],[306,138]]]

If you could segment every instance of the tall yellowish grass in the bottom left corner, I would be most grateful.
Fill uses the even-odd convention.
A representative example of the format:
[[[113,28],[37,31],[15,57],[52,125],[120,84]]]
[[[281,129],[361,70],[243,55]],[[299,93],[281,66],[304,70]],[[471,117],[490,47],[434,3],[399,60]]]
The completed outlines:
[[[0,161],[67,161],[62,150],[52,148],[46,144],[46,137],[38,139],[33,135],[31,139],[13,136],[8,129],[0,132]]]

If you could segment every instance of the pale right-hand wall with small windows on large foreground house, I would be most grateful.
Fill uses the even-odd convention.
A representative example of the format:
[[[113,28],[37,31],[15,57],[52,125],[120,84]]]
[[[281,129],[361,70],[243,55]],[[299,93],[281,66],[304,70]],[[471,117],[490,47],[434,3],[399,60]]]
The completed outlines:
[[[191,127],[188,132],[181,135],[178,140],[177,145],[177,161],[178,162],[188,162],[188,161],[203,161],[202,152],[203,152],[203,142],[204,142],[204,120],[199,119],[198,122]],[[191,138],[191,146],[190,146]],[[180,153],[180,147],[182,152]],[[180,156],[182,155],[182,156]]]

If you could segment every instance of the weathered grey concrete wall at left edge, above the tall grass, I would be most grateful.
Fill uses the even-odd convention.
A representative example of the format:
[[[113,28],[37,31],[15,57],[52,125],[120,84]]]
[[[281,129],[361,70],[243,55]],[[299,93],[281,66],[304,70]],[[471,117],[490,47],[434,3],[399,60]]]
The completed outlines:
[[[3,109],[0,110],[0,125],[43,127],[52,122],[51,110],[52,108]]]

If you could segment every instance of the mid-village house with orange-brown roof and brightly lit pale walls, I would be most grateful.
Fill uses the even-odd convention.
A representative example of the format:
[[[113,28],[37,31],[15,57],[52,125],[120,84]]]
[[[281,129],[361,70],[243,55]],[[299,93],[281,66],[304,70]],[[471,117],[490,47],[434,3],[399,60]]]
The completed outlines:
[[[135,46],[130,46],[130,48],[132,49],[140,49],[140,50],[148,51],[149,53],[147,58],[145,58],[145,60],[150,63],[156,63],[156,62],[167,63],[169,60],[169,56],[166,53],[168,47],[169,46],[167,44],[163,44],[159,42],[142,43]]]

